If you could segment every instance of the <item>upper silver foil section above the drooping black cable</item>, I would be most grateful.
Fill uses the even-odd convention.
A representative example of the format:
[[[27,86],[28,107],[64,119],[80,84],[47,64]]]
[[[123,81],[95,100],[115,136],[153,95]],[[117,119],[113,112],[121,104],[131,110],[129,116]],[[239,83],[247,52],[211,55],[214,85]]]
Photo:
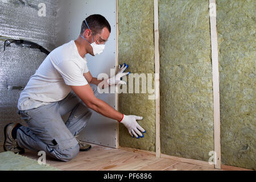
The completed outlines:
[[[38,5],[46,7],[39,16]],[[55,47],[56,1],[0,0],[0,35],[12,39],[26,39],[49,50]]]

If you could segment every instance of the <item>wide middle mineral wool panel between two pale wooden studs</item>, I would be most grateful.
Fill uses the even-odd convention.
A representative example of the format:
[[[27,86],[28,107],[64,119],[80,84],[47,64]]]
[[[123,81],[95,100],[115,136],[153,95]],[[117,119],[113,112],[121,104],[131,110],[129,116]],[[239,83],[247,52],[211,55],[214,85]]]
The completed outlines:
[[[161,152],[205,161],[214,150],[208,6],[159,0]]]

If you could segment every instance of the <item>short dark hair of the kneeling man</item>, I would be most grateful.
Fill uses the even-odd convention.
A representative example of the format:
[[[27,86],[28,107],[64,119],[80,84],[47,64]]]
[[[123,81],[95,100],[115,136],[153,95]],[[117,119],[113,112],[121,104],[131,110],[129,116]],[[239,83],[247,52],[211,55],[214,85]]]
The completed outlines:
[[[90,30],[96,34],[100,34],[102,29],[105,27],[108,28],[109,32],[111,32],[111,27],[108,20],[106,20],[106,18],[102,15],[90,15],[86,18],[86,22],[89,27],[86,26],[85,20],[82,21],[80,34],[84,33],[87,28],[90,28]]]

